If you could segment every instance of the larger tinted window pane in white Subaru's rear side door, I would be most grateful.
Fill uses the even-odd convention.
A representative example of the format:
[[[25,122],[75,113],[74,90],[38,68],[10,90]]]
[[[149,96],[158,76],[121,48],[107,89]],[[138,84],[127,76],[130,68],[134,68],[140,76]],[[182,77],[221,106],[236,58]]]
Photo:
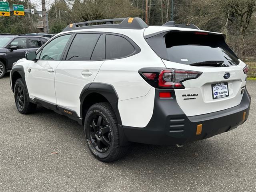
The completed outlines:
[[[76,34],[66,60],[89,61],[100,34]]]

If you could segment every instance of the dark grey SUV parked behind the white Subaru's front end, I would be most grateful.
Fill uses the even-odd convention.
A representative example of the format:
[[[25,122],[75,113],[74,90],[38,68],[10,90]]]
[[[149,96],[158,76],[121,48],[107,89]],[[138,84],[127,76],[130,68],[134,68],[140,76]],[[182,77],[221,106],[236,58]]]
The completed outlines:
[[[38,50],[48,39],[41,36],[0,35],[0,78],[12,69],[14,62],[25,58],[26,52]]]

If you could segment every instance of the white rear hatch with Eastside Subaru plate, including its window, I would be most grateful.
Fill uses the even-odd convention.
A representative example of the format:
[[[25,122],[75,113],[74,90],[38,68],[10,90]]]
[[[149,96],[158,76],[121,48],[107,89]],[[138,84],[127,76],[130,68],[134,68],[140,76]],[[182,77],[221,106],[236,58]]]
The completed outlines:
[[[202,72],[181,81],[176,100],[187,116],[225,110],[240,104],[246,66],[225,43],[222,34],[172,30],[146,38],[166,68]],[[186,76],[186,74],[183,75]]]

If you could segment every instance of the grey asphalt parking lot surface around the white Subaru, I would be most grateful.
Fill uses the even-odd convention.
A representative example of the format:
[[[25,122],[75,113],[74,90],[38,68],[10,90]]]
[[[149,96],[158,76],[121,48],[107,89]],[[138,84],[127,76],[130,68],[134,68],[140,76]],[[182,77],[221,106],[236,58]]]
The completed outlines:
[[[77,122],[42,107],[18,113],[6,74],[0,79],[0,191],[255,192],[256,81],[247,89],[250,116],[239,128],[181,148],[132,144],[124,158],[106,164],[91,155]]]

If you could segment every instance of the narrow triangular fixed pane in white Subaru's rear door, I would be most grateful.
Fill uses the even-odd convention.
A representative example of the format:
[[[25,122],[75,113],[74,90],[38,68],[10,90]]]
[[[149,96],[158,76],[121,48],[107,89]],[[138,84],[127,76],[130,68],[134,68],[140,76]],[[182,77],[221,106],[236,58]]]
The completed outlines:
[[[105,60],[105,38],[101,35],[92,53],[91,61]]]

